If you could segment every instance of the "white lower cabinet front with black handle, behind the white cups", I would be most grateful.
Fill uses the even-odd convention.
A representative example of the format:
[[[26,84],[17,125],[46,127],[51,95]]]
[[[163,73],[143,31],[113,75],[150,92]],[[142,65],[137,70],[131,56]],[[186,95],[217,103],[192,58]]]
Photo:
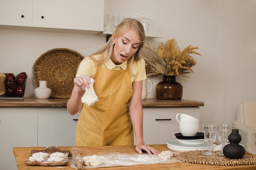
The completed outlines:
[[[200,117],[199,107],[143,108],[143,112],[145,144],[166,144],[168,139],[175,139],[174,134],[180,133],[177,113],[185,113],[197,119]]]

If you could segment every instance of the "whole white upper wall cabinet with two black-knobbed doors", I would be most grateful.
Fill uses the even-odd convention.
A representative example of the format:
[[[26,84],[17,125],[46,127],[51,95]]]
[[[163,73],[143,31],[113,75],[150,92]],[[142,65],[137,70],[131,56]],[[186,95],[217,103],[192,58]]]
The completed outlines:
[[[104,0],[3,0],[0,10],[2,29],[93,35],[103,31]]]

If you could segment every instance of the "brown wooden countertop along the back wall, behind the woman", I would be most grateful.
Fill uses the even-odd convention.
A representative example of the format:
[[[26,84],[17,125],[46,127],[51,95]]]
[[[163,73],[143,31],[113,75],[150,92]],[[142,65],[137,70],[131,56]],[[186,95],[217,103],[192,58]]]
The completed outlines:
[[[23,99],[0,99],[0,107],[67,107],[68,99],[37,99],[37,98],[23,98]],[[204,106],[204,102],[193,100],[159,100],[156,98],[148,98],[142,100],[143,107],[198,107]]]

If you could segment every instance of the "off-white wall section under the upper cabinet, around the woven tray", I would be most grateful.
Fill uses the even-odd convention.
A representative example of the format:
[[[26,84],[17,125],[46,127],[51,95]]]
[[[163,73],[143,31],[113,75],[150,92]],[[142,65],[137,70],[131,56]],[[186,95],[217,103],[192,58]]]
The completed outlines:
[[[0,30],[0,72],[26,72],[28,75],[24,97],[34,97],[32,67],[38,57],[54,48],[67,48],[83,56],[90,55],[106,42],[95,35]]]

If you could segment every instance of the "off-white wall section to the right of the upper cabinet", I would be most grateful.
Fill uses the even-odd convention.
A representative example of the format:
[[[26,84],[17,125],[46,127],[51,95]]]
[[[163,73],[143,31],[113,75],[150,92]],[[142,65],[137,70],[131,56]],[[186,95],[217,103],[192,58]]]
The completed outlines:
[[[195,73],[188,82],[177,78],[183,99],[204,102],[200,127],[230,124],[240,102],[256,100],[256,0],[106,0],[105,7],[105,13],[134,18],[146,13],[154,34],[164,36],[148,40],[155,46],[175,38],[180,49],[200,48]],[[153,79],[153,85],[161,80]]]

